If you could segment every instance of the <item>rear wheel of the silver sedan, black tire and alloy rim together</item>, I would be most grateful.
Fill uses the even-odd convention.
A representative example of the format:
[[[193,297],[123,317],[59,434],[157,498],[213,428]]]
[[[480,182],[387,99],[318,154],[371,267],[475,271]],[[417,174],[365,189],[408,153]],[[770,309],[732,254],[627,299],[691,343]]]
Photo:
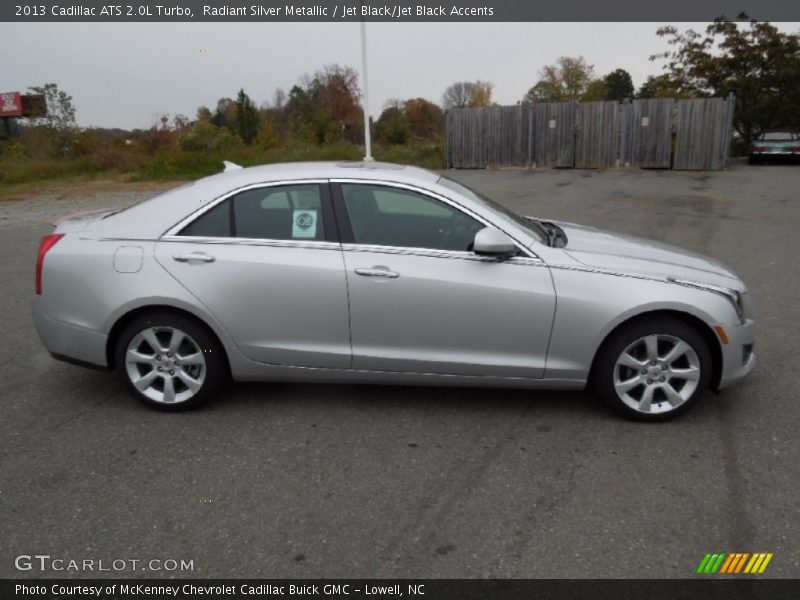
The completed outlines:
[[[220,391],[227,376],[222,349],[205,327],[186,317],[153,312],[136,317],[114,350],[116,371],[151,408],[196,408]]]

